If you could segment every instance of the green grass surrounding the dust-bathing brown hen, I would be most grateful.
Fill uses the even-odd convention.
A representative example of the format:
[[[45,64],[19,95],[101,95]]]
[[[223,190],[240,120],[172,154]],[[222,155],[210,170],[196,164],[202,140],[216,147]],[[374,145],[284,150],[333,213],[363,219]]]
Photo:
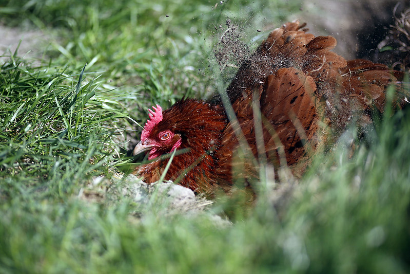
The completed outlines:
[[[3,24],[58,35],[41,65],[26,52],[2,57],[0,273],[409,271],[408,109],[387,112],[353,157],[344,139],[317,155],[284,203],[276,191],[245,210],[221,198],[210,210],[232,211],[230,226],[112,191],[126,184],[119,158],[140,130],[133,120],[228,84],[233,71],[221,73],[212,51],[227,16],[257,45],[257,29],[299,9],[296,0],[216,4],[0,1]],[[96,176],[106,178],[100,192]]]

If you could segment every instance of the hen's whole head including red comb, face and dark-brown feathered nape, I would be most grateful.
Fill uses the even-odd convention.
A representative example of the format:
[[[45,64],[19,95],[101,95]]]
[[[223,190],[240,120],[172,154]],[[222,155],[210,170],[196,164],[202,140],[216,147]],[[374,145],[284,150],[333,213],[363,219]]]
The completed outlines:
[[[204,154],[218,146],[226,123],[223,107],[205,101],[183,99],[165,111],[157,105],[149,109],[134,155],[149,151],[151,160],[177,149]]]

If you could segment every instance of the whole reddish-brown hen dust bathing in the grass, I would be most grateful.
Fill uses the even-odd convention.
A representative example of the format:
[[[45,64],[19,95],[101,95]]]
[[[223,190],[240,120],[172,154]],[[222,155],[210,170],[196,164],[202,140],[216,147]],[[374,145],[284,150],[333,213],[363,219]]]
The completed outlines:
[[[147,152],[148,162],[133,173],[157,181],[175,152],[166,180],[197,193],[228,190],[238,179],[257,178],[259,163],[295,167],[349,122],[366,124],[370,109],[382,112],[385,88],[397,82],[393,72],[346,61],[331,51],[335,38],[303,27],[291,22],[272,31],[239,68],[225,102],[183,99],[150,109],[133,151]]]

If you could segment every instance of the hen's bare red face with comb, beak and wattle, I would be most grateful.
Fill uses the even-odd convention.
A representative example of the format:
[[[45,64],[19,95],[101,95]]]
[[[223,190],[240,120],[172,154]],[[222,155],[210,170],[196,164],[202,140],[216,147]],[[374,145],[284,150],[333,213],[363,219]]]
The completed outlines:
[[[134,155],[149,151],[148,160],[176,150],[182,142],[181,135],[175,134],[161,126],[163,121],[162,108],[160,105],[148,109],[149,120],[141,134],[141,141],[134,148]]]

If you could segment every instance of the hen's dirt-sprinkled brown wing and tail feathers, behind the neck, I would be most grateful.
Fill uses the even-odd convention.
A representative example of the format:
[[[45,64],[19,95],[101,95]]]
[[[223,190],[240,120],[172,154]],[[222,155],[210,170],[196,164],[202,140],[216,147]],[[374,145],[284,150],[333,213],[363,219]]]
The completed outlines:
[[[251,94],[262,88],[261,113],[281,140],[288,165],[305,155],[303,144],[307,141],[311,147],[317,146],[319,120],[324,119],[340,134],[353,115],[366,116],[364,111],[370,106],[382,111],[385,88],[395,80],[387,66],[366,60],[346,61],[331,51],[337,44],[333,36],[315,37],[303,27],[291,22],[272,31],[227,89],[237,114],[247,117],[239,122],[257,156],[255,131],[248,129],[253,126],[248,119],[253,117]],[[274,137],[267,137],[271,133],[264,128],[267,152],[279,145]]]

